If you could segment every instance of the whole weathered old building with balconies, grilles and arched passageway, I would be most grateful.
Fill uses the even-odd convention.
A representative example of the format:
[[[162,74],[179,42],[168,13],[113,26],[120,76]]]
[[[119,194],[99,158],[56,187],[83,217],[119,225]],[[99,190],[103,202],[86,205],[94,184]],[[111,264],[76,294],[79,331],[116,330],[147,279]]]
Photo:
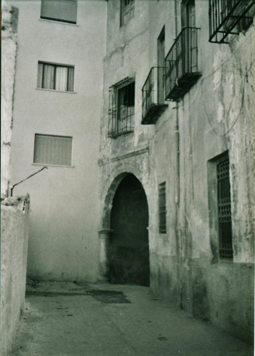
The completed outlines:
[[[254,2],[240,3],[108,1],[99,239],[110,281],[251,341]]]

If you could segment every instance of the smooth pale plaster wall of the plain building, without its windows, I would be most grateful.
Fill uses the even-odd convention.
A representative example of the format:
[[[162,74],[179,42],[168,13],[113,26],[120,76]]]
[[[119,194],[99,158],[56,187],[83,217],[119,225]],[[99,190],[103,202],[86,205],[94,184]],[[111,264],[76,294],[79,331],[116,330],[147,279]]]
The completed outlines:
[[[95,281],[106,2],[78,1],[77,25],[40,19],[40,1],[10,3],[19,7],[11,183],[43,166],[33,165],[35,133],[72,136],[72,168],[51,166],[15,187],[34,202],[28,276]],[[74,65],[74,93],[36,89],[38,61]]]

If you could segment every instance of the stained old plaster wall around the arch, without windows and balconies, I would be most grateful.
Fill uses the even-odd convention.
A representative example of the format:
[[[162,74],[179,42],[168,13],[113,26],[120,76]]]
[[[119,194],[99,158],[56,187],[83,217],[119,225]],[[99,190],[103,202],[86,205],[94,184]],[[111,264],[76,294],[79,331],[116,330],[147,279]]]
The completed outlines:
[[[143,7],[140,4],[143,3]],[[138,5],[137,5],[138,4]],[[101,222],[107,226],[123,172],[142,182],[149,207],[150,286],[194,316],[253,341],[254,258],[254,25],[230,44],[209,43],[208,2],[195,1],[197,83],[155,125],[141,125],[141,89],[157,65],[165,25],[165,54],[175,34],[174,1],[136,2],[135,17],[119,28],[119,8],[108,2],[107,54],[101,121]],[[176,2],[177,33],[181,1]],[[143,25],[144,32],[140,26]],[[139,38],[139,45],[135,42]],[[142,53],[141,53],[142,52]],[[108,89],[136,75],[134,134],[107,138]],[[148,154],[136,154],[148,146]],[[211,159],[228,150],[234,261],[218,258],[218,233],[209,201]],[[132,153],[134,152],[134,154]],[[166,181],[167,233],[158,233],[158,185]],[[216,211],[217,214],[217,211]]]

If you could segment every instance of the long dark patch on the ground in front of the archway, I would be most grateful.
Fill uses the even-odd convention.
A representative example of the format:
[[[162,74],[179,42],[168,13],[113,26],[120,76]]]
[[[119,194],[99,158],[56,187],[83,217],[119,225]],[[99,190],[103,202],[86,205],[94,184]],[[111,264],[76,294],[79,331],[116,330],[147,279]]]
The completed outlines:
[[[126,296],[123,292],[118,292],[115,290],[88,290],[82,293],[70,293],[70,292],[44,292],[44,291],[31,291],[28,290],[25,292],[25,296],[29,297],[31,295],[34,296],[48,296],[48,297],[56,297],[56,296],[76,296],[76,295],[91,295],[97,302],[101,303],[131,303],[126,299]],[[61,307],[61,306],[60,306]],[[62,309],[62,308],[57,308]]]

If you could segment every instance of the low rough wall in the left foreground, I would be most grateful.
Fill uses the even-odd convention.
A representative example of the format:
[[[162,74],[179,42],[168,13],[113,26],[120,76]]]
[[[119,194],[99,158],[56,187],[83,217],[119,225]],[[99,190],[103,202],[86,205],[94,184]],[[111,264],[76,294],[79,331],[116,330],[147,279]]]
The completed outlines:
[[[10,354],[23,309],[29,205],[29,196],[6,198],[1,202],[1,356]]]

